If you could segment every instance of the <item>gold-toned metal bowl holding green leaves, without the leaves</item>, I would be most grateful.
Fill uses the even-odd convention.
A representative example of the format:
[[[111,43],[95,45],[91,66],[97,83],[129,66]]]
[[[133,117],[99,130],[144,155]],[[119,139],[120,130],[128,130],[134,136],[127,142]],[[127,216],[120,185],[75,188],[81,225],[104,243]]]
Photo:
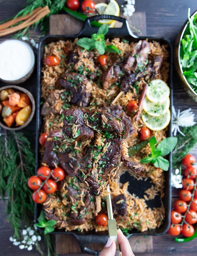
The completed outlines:
[[[195,15],[196,13],[197,13],[197,11],[194,12],[192,14],[192,16]],[[189,94],[189,96],[197,102],[197,93],[193,90],[193,88],[187,81],[186,77],[183,75],[183,70],[182,70],[181,63],[180,63],[181,40],[182,40],[184,34],[187,33],[188,29],[189,29],[189,21],[187,19],[186,22],[183,24],[183,27],[181,28],[181,30],[178,33],[178,36],[176,38],[175,49],[174,49],[174,64],[175,64],[175,68],[176,68],[178,77],[180,78],[181,84],[183,85],[183,88]]]

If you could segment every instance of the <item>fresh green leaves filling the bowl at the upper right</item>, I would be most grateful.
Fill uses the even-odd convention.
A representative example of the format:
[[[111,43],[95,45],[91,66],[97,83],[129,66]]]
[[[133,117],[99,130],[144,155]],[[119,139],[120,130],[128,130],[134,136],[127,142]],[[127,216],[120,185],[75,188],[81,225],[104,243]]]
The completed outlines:
[[[181,40],[180,63],[188,83],[197,93],[197,14],[190,17],[188,9],[188,29]]]

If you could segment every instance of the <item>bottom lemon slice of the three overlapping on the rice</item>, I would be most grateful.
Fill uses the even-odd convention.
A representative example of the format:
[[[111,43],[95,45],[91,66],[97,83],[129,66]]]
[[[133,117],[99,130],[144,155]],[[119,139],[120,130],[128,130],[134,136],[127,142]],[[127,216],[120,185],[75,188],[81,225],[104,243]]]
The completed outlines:
[[[145,111],[142,111],[142,120],[146,127],[153,131],[163,130],[169,125],[170,110],[168,109],[165,114],[160,116],[151,116]]]

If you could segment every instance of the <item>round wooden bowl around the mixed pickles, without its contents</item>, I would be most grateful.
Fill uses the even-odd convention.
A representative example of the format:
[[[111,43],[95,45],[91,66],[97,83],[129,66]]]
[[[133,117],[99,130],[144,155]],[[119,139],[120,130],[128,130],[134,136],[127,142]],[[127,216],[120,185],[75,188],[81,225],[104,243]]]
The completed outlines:
[[[35,100],[34,100],[33,95],[28,90],[26,90],[23,87],[17,86],[17,85],[7,85],[7,86],[0,87],[0,91],[6,90],[6,89],[9,89],[9,88],[14,89],[15,91],[20,91],[22,93],[26,93],[28,95],[28,97],[30,98],[30,102],[31,102],[31,105],[32,105],[32,111],[31,111],[31,114],[30,114],[29,118],[21,126],[15,126],[15,127],[6,126],[6,124],[3,122],[3,117],[0,115],[0,126],[2,128],[6,129],[6,130],[10,130],[10,131],[17,131],[17,130],[23,129],[24,127],[26,127],[31,122],[31,120],[34,116],[34,113],[35,113]]]

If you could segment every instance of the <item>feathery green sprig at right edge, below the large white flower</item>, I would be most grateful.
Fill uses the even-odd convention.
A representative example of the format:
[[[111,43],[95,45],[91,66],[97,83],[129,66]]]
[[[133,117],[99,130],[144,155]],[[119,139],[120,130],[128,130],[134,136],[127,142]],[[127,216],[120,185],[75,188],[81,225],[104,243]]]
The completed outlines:
[[[189,151],[197,143],[197,125],[190,127],[182,127],[181,131],[185,136],[178,133],[176,137],[178,138],[177,145],[172,152],[172,168],[180,168],[182,165],[182,159],[185,157]]]

